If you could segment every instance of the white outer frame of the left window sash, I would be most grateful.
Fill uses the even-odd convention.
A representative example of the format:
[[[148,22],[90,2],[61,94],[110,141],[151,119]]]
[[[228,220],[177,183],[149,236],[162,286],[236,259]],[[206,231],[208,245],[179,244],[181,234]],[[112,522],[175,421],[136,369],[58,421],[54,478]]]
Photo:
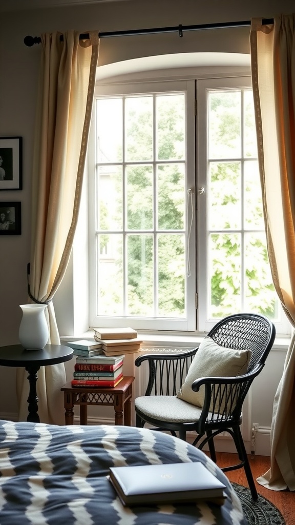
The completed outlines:
[[[97,85],[94,92],[94,104],[93,104],[93,118],[89,136],[89,273],[92,281],[92,286],[89,288],[89,322],[90,327],[101,326],[111,327],[114,324],[118,327],[125,325],[132,325],[136,330],[177,330],[181,332],[195,331],[196,327],[196,310],[195,310],[195,289],[196,289],[196,274],[195,271],[191,271],[189,277],[186,276],[186,315],[184,319],[178,318],[136,318],[136,317],[107,317],[107,316],[96,316],[96,298],[91,290],[95,290],[97,282],[96,279],[97,271],[94,266],[96,258],[95,250],[96,246],[93,243],[93,225],[95,224],[95,206],[93,199],[93,192],[96,192],[95,181],[91,177],[91,173],[96,166],[96,151],[94,146],[94,133],[96,125],[96,99],[97,97],[115,97],[124,95],[141,95],[141,93],[165,93],[165,92],[184,92],[185,93],[185,112],[186,112],[186,197],[188,197],[188,188],[195,188],[195,115],[194,112],[187,111],[188,107],[195,106],[195,82],[194,80],[164,80],[160,82],[140,82],[141,89],[139,90],[138,83],[114,83]],[[188,153],[189,152],[189,153]],[[187,225],[192,226],[190,228],[191,239],[195,238],[195,214],[192,217],[192,209],[186,207],[186,220]],[[187,227],[186,227],[187,230]],[[187,266],[194,268],[195,256],[195,243],[189,241],[186,235],[186,254],[188,255]]]

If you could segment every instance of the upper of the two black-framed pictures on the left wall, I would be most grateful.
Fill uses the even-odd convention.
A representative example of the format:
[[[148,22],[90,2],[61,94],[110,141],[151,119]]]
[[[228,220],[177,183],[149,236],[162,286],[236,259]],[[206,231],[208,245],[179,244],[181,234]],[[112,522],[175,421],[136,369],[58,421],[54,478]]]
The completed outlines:
[[[23,139],[0,137],[0,190],[22,190]]]

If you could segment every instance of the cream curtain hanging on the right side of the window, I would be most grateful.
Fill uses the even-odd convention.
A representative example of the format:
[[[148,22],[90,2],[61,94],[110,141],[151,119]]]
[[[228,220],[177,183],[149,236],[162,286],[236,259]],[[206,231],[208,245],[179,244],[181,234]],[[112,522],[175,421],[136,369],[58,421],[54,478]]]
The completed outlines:
[[[251,21],[251,75],[258,157],[273,282],[295,327],[295,15]],[[295,337],[273,404],[271,467],[257,479],[295,490]]]

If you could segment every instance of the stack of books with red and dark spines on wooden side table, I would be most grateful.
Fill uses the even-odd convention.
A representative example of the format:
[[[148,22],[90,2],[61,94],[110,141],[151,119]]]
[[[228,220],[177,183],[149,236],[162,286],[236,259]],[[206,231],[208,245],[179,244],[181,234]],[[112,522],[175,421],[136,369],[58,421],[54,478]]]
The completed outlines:
[[[92,357],[78,356],[71,385],[73,387],[115,387],[123,379],[124,354]]]

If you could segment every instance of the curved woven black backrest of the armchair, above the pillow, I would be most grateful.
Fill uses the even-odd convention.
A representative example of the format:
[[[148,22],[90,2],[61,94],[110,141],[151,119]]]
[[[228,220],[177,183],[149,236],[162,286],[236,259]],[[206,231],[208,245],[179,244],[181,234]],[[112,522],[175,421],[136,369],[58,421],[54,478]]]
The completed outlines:
[[[258,363],[265,363],[275,340],[276,330],[270,320],[260,314],[237,313],[218,321],[208,337],[220,346],[233,350],[250,350],[249,373]]]

